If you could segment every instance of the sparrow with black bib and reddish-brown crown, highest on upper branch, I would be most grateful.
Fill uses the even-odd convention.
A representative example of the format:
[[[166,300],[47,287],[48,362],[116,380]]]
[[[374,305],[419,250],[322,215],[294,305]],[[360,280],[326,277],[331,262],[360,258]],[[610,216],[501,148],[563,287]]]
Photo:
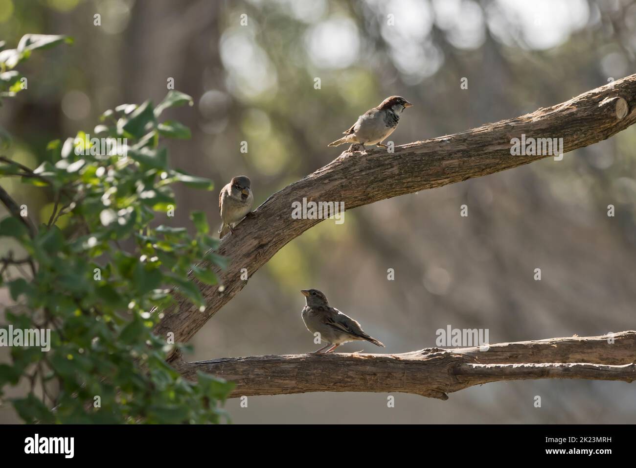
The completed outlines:
[[[387,145],[382,145],[382,141],[396,129],[402,111],[411,106],[413,104],[406,101],[403,97],[387,97],[379,106],[366,111],[358,117],[357,122],[351,125],[349,130],[343,132],[345,136],[336,139],[336,141],[329,143],[327,146],[359,143],[365,151],[364,145],[366,144],[386,148]]]

